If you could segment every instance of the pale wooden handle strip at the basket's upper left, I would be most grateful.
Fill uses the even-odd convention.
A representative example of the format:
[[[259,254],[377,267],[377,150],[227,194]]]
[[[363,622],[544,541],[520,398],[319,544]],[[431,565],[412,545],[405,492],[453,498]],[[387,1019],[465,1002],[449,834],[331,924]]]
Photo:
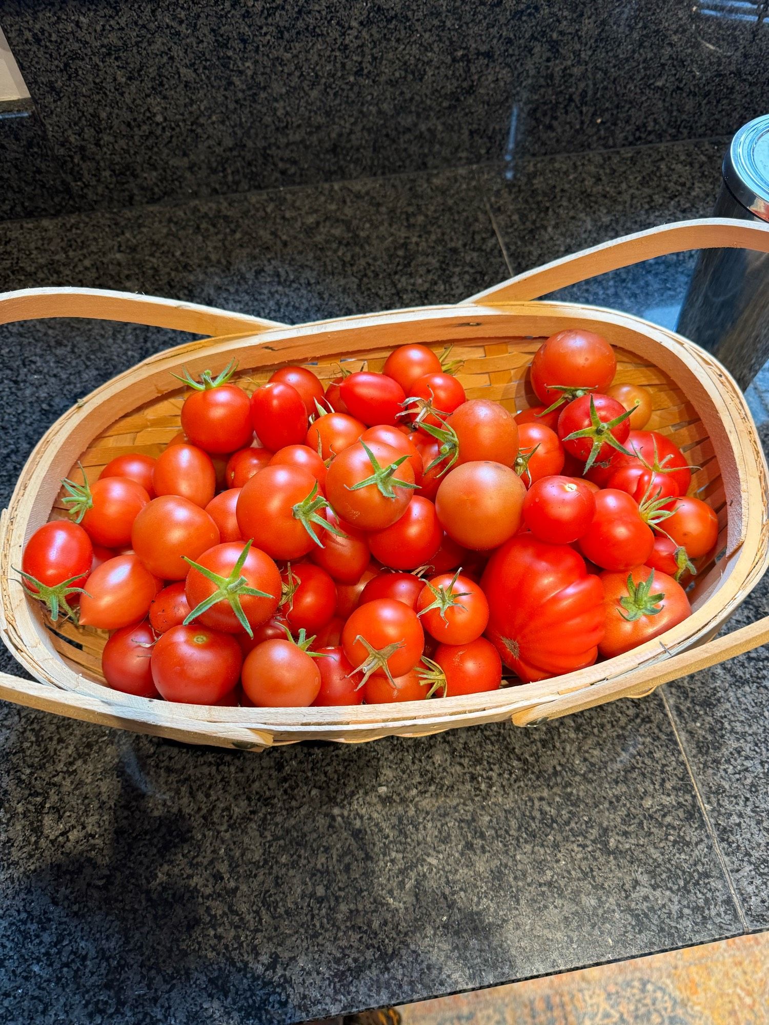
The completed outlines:
[[[232,314],[214,306],[100,288],[24,288],[0,294],[0,324],[52,317],[145,324],[147,327],[166,327],[209,337],[238,332],[257,334],[285,327],[277,321]]]

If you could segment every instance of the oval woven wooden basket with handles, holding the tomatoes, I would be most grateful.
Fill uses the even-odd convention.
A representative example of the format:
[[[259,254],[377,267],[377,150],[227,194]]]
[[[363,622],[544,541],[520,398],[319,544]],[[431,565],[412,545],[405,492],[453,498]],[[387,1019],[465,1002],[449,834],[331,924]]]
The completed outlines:
[[[736,384],[710,355],[679,335],[625,314],[531,299],[598,274],[663,253],[714,246],[769,251],[769,225],[700,220],[669,224],[606,243],[528,272],[466,302],[286,327],[189,303],[84,289],[33,289],[0,295],[0,323],[85,317],[210,335],[151,357],[97,388],[45,434],[30,456],[0,523],[0,631],[36,683],[0,674],[0,697],[89,722],[193,743],[262,749],[302,739],[347,742],[391,734],[421,736],[458,726],[512,720],[519,726],[619,697],[641,697],[667,681],[769,640],[769,619],[712,640],[767,566],[767,466],[756,426]],[[380,369],[398,344],[446,343],[463,360],[469,398],[515,411],[535,404],[526,370],[541,340],[581,326],[617,350],[616,380],[648,387],[651,428],[670,436],[700,468],[691,492],[718,511],[718,555],[700,565],[693,614],[625,655],[567,675],[485,694],[402,704],[336,708],[232,708],[172,704],[119,694],[104,685],[107,634],[71,623],[57,629],[30,602],[12,567],[27,538],[64,515],[59,481],[80,460],[94,480],[113,457],[157,455],[179,428],[184,389],[171,376],[235,358],[250,392],[287,363],[322,380],[340,361]]]

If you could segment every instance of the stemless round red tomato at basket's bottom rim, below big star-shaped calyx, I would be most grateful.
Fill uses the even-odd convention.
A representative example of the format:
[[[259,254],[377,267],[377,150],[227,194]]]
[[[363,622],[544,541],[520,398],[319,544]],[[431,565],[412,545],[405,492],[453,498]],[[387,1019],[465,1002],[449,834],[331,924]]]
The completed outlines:
[[[238,683],[243,656],[229,633],[172,626],[153,648],[152,678],[166,701],[215,704]]]

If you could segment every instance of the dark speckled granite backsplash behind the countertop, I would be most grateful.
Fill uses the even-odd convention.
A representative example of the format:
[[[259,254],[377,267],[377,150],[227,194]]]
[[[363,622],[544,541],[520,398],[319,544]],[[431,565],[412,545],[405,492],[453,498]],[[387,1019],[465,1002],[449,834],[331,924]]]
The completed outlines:
[[[728,135],[765,113],[765,8],[10,0],[42,133],[0,217]],[[0,122],[4,163],[30,135]]]

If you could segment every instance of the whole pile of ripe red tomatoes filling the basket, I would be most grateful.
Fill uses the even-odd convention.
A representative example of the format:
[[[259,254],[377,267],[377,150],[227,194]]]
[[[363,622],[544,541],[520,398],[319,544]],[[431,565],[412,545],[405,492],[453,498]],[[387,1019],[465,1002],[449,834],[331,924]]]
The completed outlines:
[[[692,467],[612,384],[611,345],[562,331],[541,406],[468,400],[432,350],[324,387],[199,380],[181,432],[65,481],[71,520],[22,578],[51,618],[111,631],[116,690],[197,704],[352,705],[490,691],[629,651],[690,614],[718,521]],[[510,673],[509,673],[510,675]]]

